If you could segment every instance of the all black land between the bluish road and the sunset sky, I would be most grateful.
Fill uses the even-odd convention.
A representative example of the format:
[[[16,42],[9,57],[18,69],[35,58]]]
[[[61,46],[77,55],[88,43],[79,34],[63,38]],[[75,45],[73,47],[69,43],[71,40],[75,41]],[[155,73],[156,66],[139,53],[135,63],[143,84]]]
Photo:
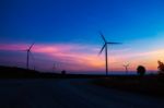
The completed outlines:
[[[0,67],[0,79],[94,79],[93,84],[118,91],[164,98],[164,75],[89,75],[42,73],[34,70]]]

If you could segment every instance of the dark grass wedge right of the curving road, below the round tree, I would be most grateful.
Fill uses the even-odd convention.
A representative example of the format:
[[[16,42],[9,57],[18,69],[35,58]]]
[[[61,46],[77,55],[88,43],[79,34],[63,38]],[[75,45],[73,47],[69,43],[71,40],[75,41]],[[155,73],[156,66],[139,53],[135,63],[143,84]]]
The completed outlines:
[[[94,80],[92,83],[106,88],[164,98],[164,76],[110,76]]]

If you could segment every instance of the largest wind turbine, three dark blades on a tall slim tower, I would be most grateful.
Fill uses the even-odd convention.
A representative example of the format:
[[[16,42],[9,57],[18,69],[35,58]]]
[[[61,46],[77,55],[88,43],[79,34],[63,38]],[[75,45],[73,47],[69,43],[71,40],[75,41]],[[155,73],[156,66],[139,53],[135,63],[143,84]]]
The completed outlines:
[[[105,48],[105,61],[106,61],[106,75],[108,75],[108,61],[107,61],[107,45],[118,45],[121,43],[112,43],[112,41],[107,41],[103,35],[102,32],[99,32],[99,35],[102,36],[103,40],[104,40],[104,46],[102,47],[99,55],[103,52],[104,48]]]

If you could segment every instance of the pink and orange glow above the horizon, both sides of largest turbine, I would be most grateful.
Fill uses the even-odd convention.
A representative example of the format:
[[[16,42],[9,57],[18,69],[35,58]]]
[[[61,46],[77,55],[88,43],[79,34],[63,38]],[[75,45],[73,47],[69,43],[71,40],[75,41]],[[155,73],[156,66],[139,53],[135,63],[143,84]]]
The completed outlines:
[[[1,44],[0,51],[20,52],[27,47],[28,44]],[[147,70],[157,70],[157,60],[164,58],[164,50],[162,49],[147,52],[129,52],[129,50],[130,49],[121,49],[114,50],[113,53],[109,52],[109,70],[124,71],[122,64],[125,62],[130,63],[130,71],[136,71],[139,64],[143,64]],[[98,51],[99,48],[97,46],[74,44],[36,44],[32,49],[33,55],[38,61],[39,59],[47,59],[47,61],[65,62],[62,67],[69,71],[104,71],[104,53],[98,56]],[[8,59],[8,57],[5,59]],[[44,62],[44,60],[39,62]],[[49,63],[45,64],[47,64],[44,65],[45,68],[50,65]],[[37,63],[37,67],[42,65]]]

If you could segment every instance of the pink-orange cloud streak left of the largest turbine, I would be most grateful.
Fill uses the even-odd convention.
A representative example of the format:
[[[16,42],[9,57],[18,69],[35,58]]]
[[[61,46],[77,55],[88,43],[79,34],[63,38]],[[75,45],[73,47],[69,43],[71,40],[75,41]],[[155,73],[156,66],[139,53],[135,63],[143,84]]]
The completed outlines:
[[[21,52],[28,48],[27,44],[0,45],[2,51]],[[37,60],[48,59],[65,64],[63,67],[71,70],[96,70],[102,68],[103,62],[97,57],[94,46],[83,45],[43,45],[37,44],[32,48],[32,52]],[[8,59],[8,58],[7,58]],[[48,63],[49,64],[49,63]]]

